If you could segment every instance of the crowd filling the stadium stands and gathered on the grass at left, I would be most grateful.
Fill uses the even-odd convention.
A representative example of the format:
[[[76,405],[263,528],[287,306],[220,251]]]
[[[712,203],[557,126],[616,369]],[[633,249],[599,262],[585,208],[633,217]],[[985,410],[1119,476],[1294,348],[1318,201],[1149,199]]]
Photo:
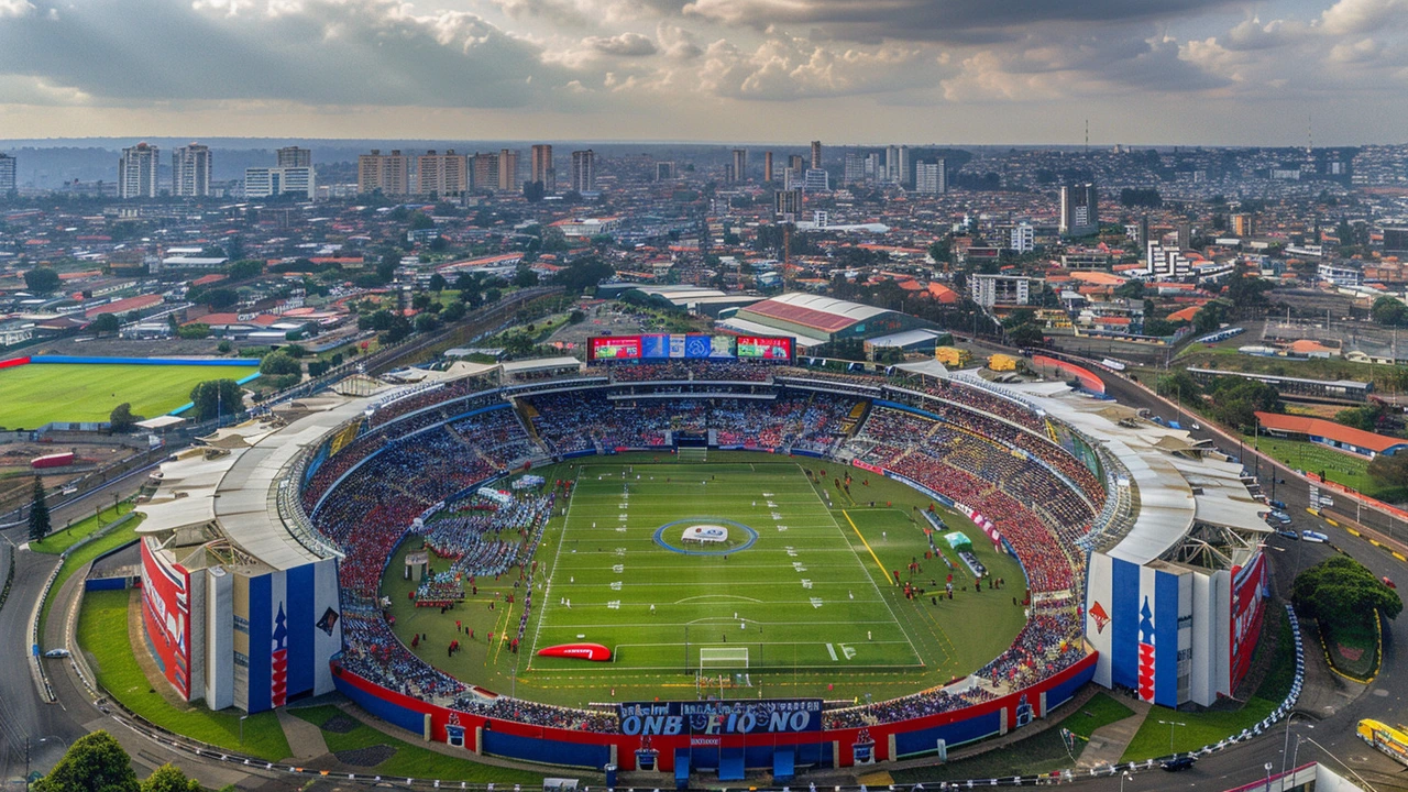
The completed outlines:
[[[756,372],[763,372],[763,379],[780,372],[762,364],[705,361],[611,366],[610,371],[617,382],[629,382],[628,378],[636,375],[641,379],[683,375],[758,382],[752,379]],[[876,376],[814,369],[794,369],[793,373],[883,383]],[[548,727],[615,731],[617,717],[610,712],[486,696],[469,689],[411,654],[375,605],[384,562],[418,516],[515,461],[541,452],[513,409],[487,410],[408,437],[472,409],[459,400],[427,410],[439,400],[467,396],[480,385],[480,380],[458,380],[383,406],[373,426],[384,431],[373,430],[325,459],[304,488],[304,505],[311,509],[332,482],[366,461],[314,514],[318,530],[346,552],[339,571],[346,648],[342,662],[349,671],[387,688],[462,712]],[[1091,506],[1048,468],[1014,450],[1060,471],[1084,489],[1098,509],[1104,493],[1095,476],[1049,443],[1045,420],[1021,403],[973,385],[925,383],[924,388],[936,397],[925,400],[924,409],[943,420],[876,407],[850,440],[846,435],[855,420],[852,416],[860,414],[859,402],[838,395],[783,389],[774,400],[679,397],[620,403],[598,390],[576,390],[524,396],[522,400],[531,407],[525,414],[531,416],[532,433],[553,454],[663,445],[670,431],[711,430],[722,445],[797,447],[829,455],[845,444],[845,451],[857,459],[893,469],[993,520],[1022,562],[1033,593],[1071,589],[1076,576],[1083,574],[1083,554],[1067,548],[1088,530]],[[489,404],[497,396],[473,402]],[[387,427],[386,416],[417,410],[424,413]],[[472,502],[470,509],[429,520],[418,530],[438,555],[453,558],[451,571],[442,572],[449,575],[445,579],[500,574],[515,564],[532,562],[552,507],[552,495],[522,495],[493,507],[487,502]],[[522,541],[504,540],[505,530],[520,533]],[[528,626],[531,606],[528,589],[518,640]],[[1080,617],[1074,610],[1035,607],[1012,645],[976,674],[983,685],[955,692],[935,688],[887,702],[828,710],[825,727],[867,726],[987,700],[997,695],[984,686],[987,683],[1022,686],[1069,668],[1083,654],[1080,634]]]

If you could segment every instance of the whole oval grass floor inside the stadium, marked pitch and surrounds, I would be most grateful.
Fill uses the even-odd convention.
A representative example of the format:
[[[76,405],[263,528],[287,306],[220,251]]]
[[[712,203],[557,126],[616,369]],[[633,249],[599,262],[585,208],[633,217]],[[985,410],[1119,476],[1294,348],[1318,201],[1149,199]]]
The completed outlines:
[[[924,557],[928,521],[919,510],[929,500],[915,490],[849,469],[846,493],[835,486],[846,468],[822,459],[717,451],[708,459],[638,454],[535,471],[576,486],[559,499],[538,548],[518,654],[503,640],[522,616],[517,572],[482,578],[476,596],[444,614],[415,609],[401,575],[404,554],[420,547],[414,538],[383,583],[396,631],[407,645],[422,634],[413,651],[465,682],[580,706],[611,696],[693,698],[701,685],[718,695],[721,682],[727,698],[879,700],[976,671],[1021,629],[1017,562],[952,512],[945,521],[979,540],[979,558],[1007,586],[972,590],[972,574],[939,543],[955,564],[955,596],[941,596],[950,569]],[[686,543],[691,527],[725,528],[727,541]],[[918,572],[908,571],[911,561]],[[925,593],[905,598],[894,571]],[[514,605],[498,599],[508,593]],[[453,657],[451,640],[465,647]],[[535,655],[570,643],[603,644],[612,660]]]

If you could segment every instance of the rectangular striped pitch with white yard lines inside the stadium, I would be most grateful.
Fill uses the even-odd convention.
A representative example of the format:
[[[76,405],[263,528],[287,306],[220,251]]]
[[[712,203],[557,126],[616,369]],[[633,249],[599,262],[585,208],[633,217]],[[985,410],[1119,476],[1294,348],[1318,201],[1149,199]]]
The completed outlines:
[[[924,665],[872,574],[887,572],[801,465],[590,464],[576,481],[559,545],[539,551],[532,651],[598,643],[614,674]]]

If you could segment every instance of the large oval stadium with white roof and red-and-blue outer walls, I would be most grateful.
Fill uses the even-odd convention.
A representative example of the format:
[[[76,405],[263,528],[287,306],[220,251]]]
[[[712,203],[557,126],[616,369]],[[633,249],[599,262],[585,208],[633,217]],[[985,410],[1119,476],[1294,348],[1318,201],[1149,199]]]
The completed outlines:
[[[1269,528],[1240,465],[1177,430],[787,337],[587,358],[318,395],[163,464],[144,624],[173,688],[783,781],[942,760],[1091,681],[1208,706],[1247,671]]]

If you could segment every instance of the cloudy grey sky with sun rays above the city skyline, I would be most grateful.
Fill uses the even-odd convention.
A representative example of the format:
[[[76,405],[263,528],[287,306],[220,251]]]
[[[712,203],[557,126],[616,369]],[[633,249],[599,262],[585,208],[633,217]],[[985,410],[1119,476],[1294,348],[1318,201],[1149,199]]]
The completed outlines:
[[[1408,0],[0,0],[0,138],[1408,142]]]

